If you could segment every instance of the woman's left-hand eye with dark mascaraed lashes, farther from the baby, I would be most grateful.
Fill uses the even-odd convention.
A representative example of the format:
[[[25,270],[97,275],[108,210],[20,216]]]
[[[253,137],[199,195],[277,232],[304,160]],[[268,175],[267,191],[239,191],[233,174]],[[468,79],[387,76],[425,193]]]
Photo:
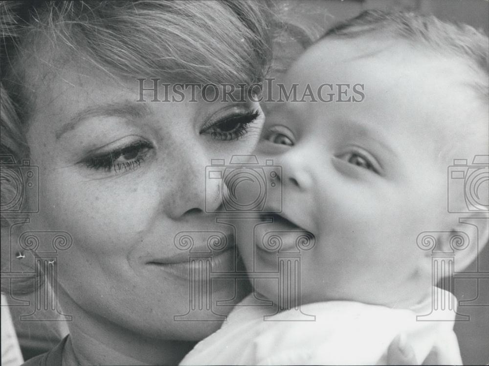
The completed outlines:
[[[87,168],[104,172],[128,172],[141,165],[153,146],[146,141],[138,141],[121,149],[91,156],[84,160]]]

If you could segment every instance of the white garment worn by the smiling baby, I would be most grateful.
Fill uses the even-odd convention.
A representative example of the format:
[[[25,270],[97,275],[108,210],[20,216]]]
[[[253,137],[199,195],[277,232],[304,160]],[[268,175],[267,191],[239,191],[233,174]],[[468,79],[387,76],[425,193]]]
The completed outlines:
[[[436,293],[442,295],[436,296],[440,302],[453,297],[440,289]],[[431,296],[409,310],[355,301],[302,305],[304,314],[315,316],[312,322],[290,321],[293,310],[264,321],[269,308],[238,305],[221,329],[199,342],[180,365],[386,365],[387,348],[401,332],[418,361],[437,344],[444,360],[461,365],[455,312],[445,300],[436,305],[437,319],[444,321],[417,321],[418,315],[432,312]]]

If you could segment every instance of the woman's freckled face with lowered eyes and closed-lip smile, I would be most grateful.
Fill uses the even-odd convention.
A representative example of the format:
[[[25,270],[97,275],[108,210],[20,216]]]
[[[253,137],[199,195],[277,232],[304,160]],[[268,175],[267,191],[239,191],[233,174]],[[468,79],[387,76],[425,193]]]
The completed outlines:
[[[145,87],[153,85],[150,77],[158,76]],[[211,158],[229,162],[253,151],[263,123],[259,105],[207,103],[200,93],[197,102],[188,93],[182,102],[151,102],[153,91],[136,102],[135,79],[74,65],[33,79],[27,139],[41,188],[31,227],[73,238],[57,259],[64,313],[160,339],[200,340],[214,331],[219,322],[174,321],[189,309],[190,282],[189,251],[174,237],[193,232],[193,249],[205,251],[209,232],[218,231],[234,245],[231,228],[205,213],[221,204],[205,167]],[[233,270],[234,248],[212,266]],[[233,298],[233,283],[212,281],[214,304]]]

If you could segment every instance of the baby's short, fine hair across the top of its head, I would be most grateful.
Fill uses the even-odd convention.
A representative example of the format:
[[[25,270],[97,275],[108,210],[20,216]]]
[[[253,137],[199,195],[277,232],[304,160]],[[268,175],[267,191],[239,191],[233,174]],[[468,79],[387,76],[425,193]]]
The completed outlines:
[[[466,60],[477,72],[484,74],[475,86],[478,92],[482,92],[484,99],[488,100],[489,39],[482,31],[467,24],[443,22],[433,15],[368,10],[353,19],[334,25],[321,39],[353,39],[375,32]]]

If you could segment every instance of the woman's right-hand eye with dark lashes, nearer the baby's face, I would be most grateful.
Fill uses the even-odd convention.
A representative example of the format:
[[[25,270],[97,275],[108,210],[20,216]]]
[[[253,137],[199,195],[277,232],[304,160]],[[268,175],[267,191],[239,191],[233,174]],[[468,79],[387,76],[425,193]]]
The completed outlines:
[[[202,130],[200,133],[210,134],[213,138],[222,141],[239,140],[248,133],[248,125],[255,122],[259,116],[259,110],[231,114],[218,120],[211,127]]]

